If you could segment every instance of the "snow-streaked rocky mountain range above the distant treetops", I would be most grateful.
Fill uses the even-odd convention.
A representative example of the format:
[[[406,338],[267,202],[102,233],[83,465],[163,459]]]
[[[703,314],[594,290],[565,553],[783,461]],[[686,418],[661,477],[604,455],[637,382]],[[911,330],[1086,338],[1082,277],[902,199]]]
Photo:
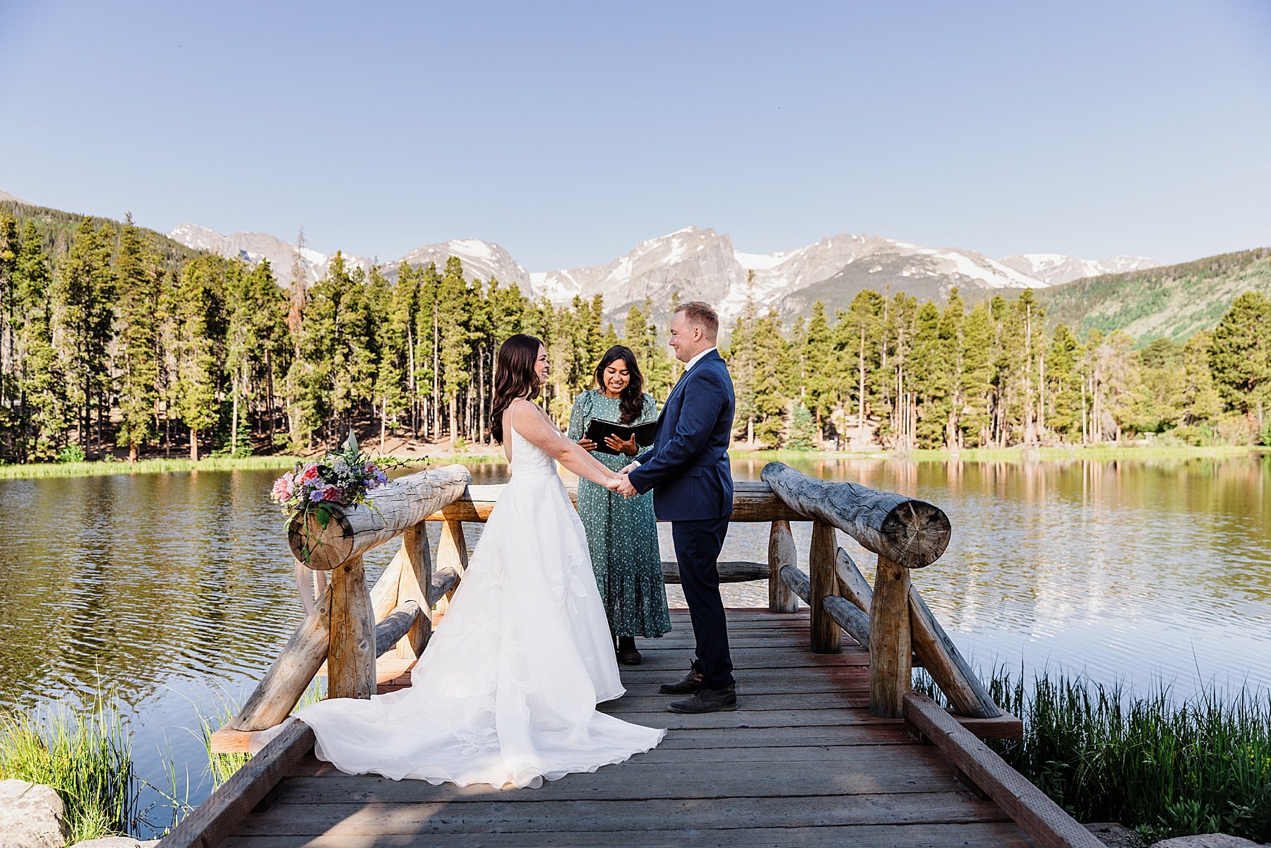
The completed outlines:
[[[330,256],[283,242],[264,233],[224,235],[196,224],[180,224],[168,234],[189,248],[252,262],[269,261],[283,284],[300,272],[314,281],[325,272]],[[526,271],[505,248],[480,239],[452,239],[418,247],[383,266],[395,276],[400,262],[445,264],[459,257],[469,276],[515,284],[531,297],[568,303],[576,295],[604,295],[606,314],[620,317],[632,304],[651,299],[670,304],[707,300],[730,320],[754,297],[760,308],[775,306],[783,315],[803,314],[820,299],[833,309],[845,308],[862,289],[905,291],[920,299],[943,299],[955,286],[965,290],[1047,289],[1077,278],[1158,267],[1145,257],[1077,259],[1055,253],[1024,253],[1002,259],[961,248],[930,248],[880,235],[833,235],[779,253],[745,253],[732,238],[712,229],[688,226],[637,244],[625,256],[601,266],[557,271]],[[366,257],[344,253],[344,261],[370,268]],[[751,272],[754,278],[750,280]],[[656,311],[662,311],[656,309]]]

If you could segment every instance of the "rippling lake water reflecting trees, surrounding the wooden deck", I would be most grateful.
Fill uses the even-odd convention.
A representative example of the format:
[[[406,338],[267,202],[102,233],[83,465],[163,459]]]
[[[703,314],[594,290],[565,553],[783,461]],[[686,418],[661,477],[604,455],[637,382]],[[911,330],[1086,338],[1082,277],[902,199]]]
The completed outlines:
[[[1164,681],[1179,698],[1271,687],[1271,456],[796,465],[948,512],[948,551],[913,576],[975,665]],[[761,468],[733,463],[738,479]],[[501,463],[472,469],[506,479]],[[0,481],[0,704],[116,692],[141,777],[168,790],[172,759],[182,791],[188,768],[191,798],[206,797],[196,711],[240,702],[302,615],[276,474]],[[810,525],[794,535],[803,562]],[[872,580],[873,556],[840,542]],[[766,525],[733,525],[722,558],[763,561],[766,544]],[[372,578],[390,548],[367,558]],[[728,591],[766,604],[766,584]]]

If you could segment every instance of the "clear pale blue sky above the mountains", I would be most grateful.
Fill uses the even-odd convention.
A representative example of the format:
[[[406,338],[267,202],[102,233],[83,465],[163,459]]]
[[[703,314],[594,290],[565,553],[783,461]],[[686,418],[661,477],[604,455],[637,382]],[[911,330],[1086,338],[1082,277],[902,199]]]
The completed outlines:
[[[681,226],[1271,244],[1271,3],[0,0],[0,189],[531,271]]]

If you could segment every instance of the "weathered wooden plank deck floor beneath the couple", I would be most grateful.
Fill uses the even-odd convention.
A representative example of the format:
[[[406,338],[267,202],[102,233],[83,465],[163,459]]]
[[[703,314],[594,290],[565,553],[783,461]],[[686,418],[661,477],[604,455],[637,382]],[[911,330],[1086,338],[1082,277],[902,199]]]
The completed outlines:
[[[939,749],[868,713],[868,652],[808,651],[808,614],[730,610],[741,708],[666,712],[657,684],[691,657],[688,613],[642,641],[627,695],[604,708],[670,728],[655,750],[538,790],[342,774],[311,755],[222,844],[299,845],[1033,845],[958,783]]]

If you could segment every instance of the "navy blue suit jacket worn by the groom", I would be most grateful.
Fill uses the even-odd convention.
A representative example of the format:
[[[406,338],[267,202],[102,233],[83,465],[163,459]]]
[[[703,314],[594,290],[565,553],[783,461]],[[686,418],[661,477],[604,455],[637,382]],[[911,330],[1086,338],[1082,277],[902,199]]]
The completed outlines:
[[[638,492],[653,489],[663,521],[732,515],[728,441],[736,400],[718,351],[703,356],[675,384],[657,418],[653,448],[630,473]]]

